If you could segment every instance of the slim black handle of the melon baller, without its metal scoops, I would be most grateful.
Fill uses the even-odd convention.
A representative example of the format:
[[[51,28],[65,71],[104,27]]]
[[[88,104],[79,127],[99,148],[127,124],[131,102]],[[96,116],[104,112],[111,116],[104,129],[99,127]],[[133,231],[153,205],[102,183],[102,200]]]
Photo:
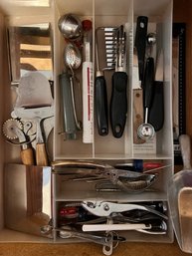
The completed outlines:
[[[154,83],[154,59],[149,57],[146,59],[144,81],[143,81],[143,105],[144,108],[150,108],[153,98]]]

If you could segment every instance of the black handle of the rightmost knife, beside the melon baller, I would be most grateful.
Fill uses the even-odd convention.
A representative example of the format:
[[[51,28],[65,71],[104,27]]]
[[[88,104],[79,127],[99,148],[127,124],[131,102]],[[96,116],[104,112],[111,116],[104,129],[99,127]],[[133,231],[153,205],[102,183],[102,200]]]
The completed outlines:
[[[153,84],[154,97],[149,110],[148,122],[155,131],[163,128],[164,124],[164,87],[163,82],[155,81]]]

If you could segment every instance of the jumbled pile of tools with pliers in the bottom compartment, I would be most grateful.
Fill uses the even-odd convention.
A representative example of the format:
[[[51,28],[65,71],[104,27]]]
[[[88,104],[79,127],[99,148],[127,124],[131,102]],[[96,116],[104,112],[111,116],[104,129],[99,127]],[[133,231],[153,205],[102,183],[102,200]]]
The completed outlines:
[[[63,202],[58,207],[57,227],[44,230],[54,230],[62,239],[80,238],[101,244],[103,254],[111,255],[118,243],[126,240],[119,231],[165,235],[166,210],[161,201],[137,204],[96,199]]]

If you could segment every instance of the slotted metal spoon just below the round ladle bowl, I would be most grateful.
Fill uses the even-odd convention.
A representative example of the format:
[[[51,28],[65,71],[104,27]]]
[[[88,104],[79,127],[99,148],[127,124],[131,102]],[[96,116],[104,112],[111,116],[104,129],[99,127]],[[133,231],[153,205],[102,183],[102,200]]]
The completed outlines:
[[[78,118],[77,118],[75,94],[74,94],[74,80],[76,80],[78,87],[79,87],[81,109],[82,109],[82,94],[81,94],[81,88],[80,88],[80,81],[76,77],[74,70],[77,70],[81,66],[82,56],[81,56],[81,53],[80,53],[80,50],[78,49],[78,47],[76,47],[72,43],[67,44],[67,46],[64,50],[64,63],[66,64],[66,66],[68,68],[70,68],[70,70],[72,72],[72,76],[70,78],[70,83],[71,83],[73,111],[74,111],[76,126],[77,126],[77,128],[81,129],[82,125],[80,124],[80,122],[78,121]]]

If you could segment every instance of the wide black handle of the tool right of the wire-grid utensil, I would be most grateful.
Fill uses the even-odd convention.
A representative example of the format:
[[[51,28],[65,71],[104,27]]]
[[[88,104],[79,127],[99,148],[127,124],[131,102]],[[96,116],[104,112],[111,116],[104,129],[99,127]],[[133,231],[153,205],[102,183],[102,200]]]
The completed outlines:
[[[112,94],[110,100],[110,125],[114,137],[120,137],[126,123],[127,113],[127,75],[114,72],[112,75]]]

